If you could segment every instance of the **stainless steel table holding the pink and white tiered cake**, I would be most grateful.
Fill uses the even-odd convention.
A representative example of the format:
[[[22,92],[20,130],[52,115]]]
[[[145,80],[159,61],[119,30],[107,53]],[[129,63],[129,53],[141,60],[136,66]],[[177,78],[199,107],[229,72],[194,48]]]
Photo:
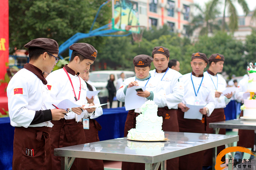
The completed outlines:
[[[254,120],[243,120],[243,119],[233,119],[228,121],[222,122],[214,122],[209,123],[209,127],[213,128],[213,133],[218,134],[220,129],[245,129],[245,130],[256,130],[256,121]],[[256,135],[255,135],[256,137]],[[254,138],[255,138],[254,137]],[[254,140],[254,144],[255,144]],[[227,146],[226,146],[227,147]],[[228,154],[230,159],[233,159],[233,153]],[[217,147],[213,149],[213,156],[212,156],[212,164],[216,161],[217,157]],[[212,166],[214,169],[214,166]]]

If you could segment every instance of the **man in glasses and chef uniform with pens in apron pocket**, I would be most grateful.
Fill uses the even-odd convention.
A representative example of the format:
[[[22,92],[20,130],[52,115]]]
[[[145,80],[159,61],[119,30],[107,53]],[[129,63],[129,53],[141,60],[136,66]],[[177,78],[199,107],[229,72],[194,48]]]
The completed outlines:
[[[59,46],[55,40],[38,38],[24,47],[28,48],[29,63],[7,87],[9,115],[15,127],[12,169],[52,169],[50,121],[64,118],[67,111],[44,106],[51,98],[42,73],[50,73],[59,61]]]

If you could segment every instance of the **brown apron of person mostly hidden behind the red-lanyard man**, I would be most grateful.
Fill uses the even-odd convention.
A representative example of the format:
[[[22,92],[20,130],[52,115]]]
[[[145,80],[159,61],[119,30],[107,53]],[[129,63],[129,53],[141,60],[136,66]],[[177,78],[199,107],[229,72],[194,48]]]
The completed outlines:
[[[99,139],[98,131],[102,129],[100,126],[100,123],[98,123],[94,119],[89,119],[89,123],[90,123],[90,128],[84,129],[86,142],[87,143],[99,142],[100,139]],[[103,160],[99,160],[99,159],[87,159],[87,160],[88,160],[90,170],[104,170]]]

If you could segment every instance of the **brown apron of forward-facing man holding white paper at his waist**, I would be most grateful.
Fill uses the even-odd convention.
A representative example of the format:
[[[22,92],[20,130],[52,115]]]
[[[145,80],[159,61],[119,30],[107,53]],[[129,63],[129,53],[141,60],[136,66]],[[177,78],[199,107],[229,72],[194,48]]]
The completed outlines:
[[[205,133],[205,120],[184,119],[184,112],[177,110],[180,132]],[[204,151],[190,153],[179,159],[180,170],[201,170],[203,168]]]

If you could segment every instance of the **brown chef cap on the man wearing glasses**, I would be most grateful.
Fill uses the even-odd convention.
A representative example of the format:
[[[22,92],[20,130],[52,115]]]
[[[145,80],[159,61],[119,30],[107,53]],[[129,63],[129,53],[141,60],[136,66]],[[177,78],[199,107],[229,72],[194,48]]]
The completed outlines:
[[[43,48],[46,51],[49,51],[50,53],[59,54],[58,43],[55,40],[49,38],[37,38],[35,40],[31,40],[26,45],[24,45],[24,47],[38,47]]]

